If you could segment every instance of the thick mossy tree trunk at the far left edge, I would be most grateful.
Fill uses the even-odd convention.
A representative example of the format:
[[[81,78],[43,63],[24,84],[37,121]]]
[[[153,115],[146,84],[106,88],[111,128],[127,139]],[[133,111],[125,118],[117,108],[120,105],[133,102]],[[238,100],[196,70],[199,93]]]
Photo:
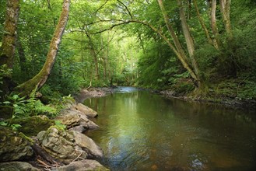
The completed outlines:
[[[12,69],[16,47],[16,29],[19,18],[19,0],[8,0],[6,3],[5,26],[0,50],[0,66],[6,65]],[[2,75],[2,92],[0,99],[9,94],[12,85],[12,75]],[[1,80],[0,80],[1,81]]]

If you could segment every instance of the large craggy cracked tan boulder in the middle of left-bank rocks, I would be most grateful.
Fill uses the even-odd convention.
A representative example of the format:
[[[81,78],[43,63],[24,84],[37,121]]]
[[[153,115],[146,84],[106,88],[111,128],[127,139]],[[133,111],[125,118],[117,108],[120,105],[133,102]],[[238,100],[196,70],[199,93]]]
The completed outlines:
[[[41,147],[54,159],[68,164],[77,157],[86,159],[87,153],[75,143],[72,134],[60,127],[50,127],[47,131],[37,134]]]

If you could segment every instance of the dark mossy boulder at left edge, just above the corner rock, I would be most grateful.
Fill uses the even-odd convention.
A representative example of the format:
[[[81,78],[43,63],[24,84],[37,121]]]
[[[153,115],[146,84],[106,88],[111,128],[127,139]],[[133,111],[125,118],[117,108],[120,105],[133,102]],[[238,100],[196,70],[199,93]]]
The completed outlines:
[[[19,159],[30,159],[33,155],[32,143],[22,133],[0,127],[0,161],[9,162]]]

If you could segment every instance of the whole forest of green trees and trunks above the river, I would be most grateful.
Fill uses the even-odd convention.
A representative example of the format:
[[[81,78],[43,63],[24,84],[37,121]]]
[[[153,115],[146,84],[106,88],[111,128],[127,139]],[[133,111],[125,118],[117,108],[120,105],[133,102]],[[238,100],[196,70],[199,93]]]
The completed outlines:
[[[1,1],[1,100],[33,89],[59,98],[90,85],[255,99],[255,7],[253,0]]]

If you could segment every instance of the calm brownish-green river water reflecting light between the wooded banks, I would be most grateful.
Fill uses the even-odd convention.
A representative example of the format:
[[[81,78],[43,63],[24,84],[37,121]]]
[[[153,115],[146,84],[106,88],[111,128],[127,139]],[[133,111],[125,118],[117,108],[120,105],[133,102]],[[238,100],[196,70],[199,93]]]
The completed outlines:
[[[85,104],[99,114],[87,134],[111,170],[256,170],[254,112],[130,87]]]

